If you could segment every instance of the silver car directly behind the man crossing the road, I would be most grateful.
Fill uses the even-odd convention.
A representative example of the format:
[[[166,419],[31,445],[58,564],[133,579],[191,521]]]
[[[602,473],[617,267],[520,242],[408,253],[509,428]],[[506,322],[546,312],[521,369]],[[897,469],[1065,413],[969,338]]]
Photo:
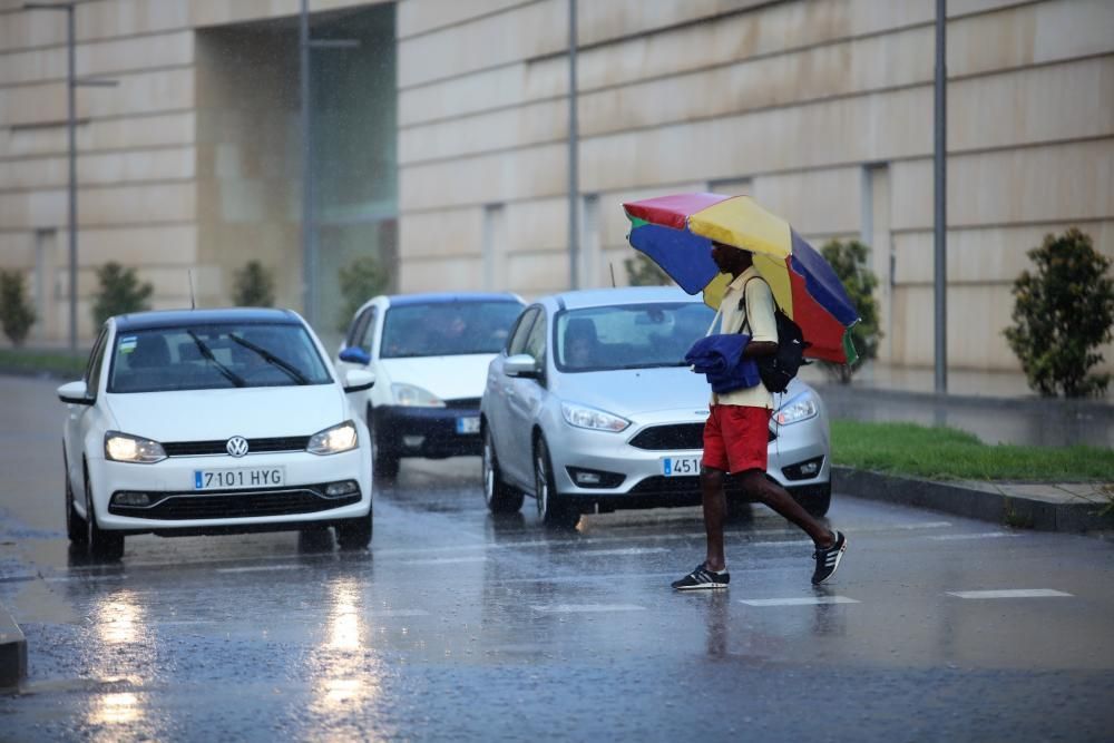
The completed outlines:
[[[709,385],[684,362],[714,313],[678,289],[543,297],[488,368],[480,404],[483,492],[494,512],[526,495],[541,520],[700,502]],[[800,380],[774,395],[768,473],[812,514],[828,511],[828,414]],[[729,483],[730,502],[744,501]]]

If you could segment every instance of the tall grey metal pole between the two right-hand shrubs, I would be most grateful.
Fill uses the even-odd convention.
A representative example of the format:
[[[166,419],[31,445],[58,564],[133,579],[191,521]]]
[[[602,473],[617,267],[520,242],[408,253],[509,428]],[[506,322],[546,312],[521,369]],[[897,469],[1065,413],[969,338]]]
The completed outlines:
[[[934,180],[936,217],[932,225],[936,253],[934,292],[936,305],[936,391],[948,391],[948,67],[947,0],[936,0],[936,149]]]

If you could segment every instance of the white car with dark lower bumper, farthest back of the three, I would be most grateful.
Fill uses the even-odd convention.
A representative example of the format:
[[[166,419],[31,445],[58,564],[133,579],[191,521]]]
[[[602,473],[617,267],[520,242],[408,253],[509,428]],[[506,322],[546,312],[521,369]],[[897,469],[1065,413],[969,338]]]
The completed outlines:
[[[488,364],[522,311],[515,294],[456,292],[377,296],[361,306],[336,368],[368,369],[378,383],[358,410],[372,434],[375,475],[401,457],[480,453],[480,397]]]

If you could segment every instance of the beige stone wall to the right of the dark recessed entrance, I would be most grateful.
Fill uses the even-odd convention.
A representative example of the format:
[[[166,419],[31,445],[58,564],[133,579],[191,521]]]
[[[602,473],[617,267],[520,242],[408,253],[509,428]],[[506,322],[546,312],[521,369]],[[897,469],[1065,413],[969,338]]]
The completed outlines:
[[[949,361],[1016,369],[1001,330],[1025,251],[1078,225],[1114,256],[1114,3],[948,6]],[[734,184],[818,245],[870,243],[881,355],[930,365],[934,13],[582,1],[582,275],[624,282],[622,202]],[[490,283],[496,207],[506,289],[568,287],[567,19],[565,0],[400,3],[403,289]],[[451,241],[428,237],[446,224]]]

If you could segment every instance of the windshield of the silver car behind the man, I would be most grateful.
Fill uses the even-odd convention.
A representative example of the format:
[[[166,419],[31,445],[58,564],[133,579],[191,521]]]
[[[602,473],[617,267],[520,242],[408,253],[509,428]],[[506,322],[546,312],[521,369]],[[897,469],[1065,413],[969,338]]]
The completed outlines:
[[[557,314],[557,369],[565,372],[680,366],[715,313],[703,302],[628,304]]]

